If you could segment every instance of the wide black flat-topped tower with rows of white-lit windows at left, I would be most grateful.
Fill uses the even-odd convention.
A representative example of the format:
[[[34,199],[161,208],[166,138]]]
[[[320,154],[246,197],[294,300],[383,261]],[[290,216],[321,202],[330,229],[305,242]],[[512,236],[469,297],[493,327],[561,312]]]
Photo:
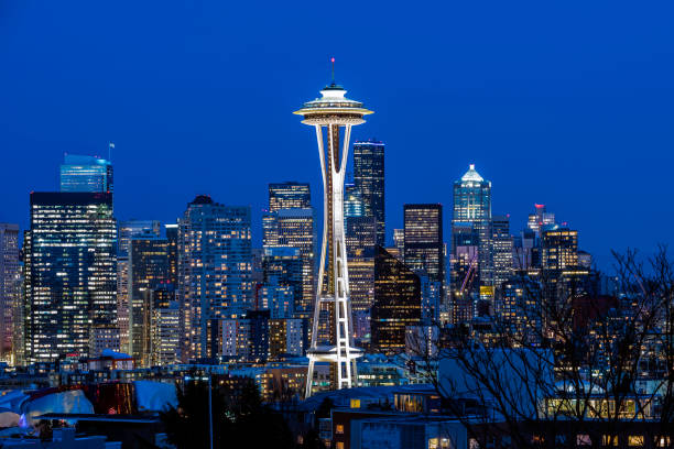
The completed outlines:
[[[112,195],[32,193],[25,243],[26,361],[119,350]]]

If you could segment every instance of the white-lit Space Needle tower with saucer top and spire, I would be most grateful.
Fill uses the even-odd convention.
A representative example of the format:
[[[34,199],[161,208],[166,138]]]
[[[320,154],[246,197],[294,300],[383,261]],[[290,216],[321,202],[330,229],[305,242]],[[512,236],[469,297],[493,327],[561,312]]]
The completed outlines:
[[[294,112],[304,118],[302,123],[316,129],[324,190],[323,243],[312,321],[312,342],[307,351],[305,397],[313,393],[316,362],[331,364],[333,390],[350,388],[357,373],[356,359],[362,355],[362,350],[355,348],[352,342],[354,326],[344,232],[344,177],[351,127],[365,123],[363,116],[372,111],[365,109],[361,102],[345,97],[346,90],[335,84],[335,58],[331,58],[331,84],[320,90],[320,98],[305,102],[302,109]],[[327,133],[325,136],[324,129]],[[322,316],[324,322],[319,326]],[[329,317],[328,322],[325,322],[326,316]]]

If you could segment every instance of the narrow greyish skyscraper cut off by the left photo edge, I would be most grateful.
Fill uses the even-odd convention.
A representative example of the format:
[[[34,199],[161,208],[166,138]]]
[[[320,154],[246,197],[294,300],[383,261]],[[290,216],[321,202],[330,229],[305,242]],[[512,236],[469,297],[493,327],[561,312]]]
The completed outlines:
[[[0,223],[0,360],[3,361],[7,361],[13,351],[14,317],[21,294],[20,280],[19,226]]]

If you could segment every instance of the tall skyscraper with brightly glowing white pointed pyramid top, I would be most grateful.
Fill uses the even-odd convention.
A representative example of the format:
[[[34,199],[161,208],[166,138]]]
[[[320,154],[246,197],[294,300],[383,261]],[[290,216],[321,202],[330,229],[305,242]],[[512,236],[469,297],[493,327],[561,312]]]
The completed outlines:
[[[454,183],[452,223],[470,223],[478,237],[479,285],[493,286],[491,248],[491,183],[470,164],[468,172]]]

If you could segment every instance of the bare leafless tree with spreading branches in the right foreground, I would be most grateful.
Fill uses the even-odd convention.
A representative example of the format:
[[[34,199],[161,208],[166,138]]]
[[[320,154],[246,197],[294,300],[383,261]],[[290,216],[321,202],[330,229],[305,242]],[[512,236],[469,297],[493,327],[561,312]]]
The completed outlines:
[[[416,369],[480,447],[618,446],[628,435],[670,447],[673,265],[665,248],[645,264],[635,251],[613,255],[613,295],[574,269],[521,275],[493,316],[438,325],[437,351],[413,344]]]

